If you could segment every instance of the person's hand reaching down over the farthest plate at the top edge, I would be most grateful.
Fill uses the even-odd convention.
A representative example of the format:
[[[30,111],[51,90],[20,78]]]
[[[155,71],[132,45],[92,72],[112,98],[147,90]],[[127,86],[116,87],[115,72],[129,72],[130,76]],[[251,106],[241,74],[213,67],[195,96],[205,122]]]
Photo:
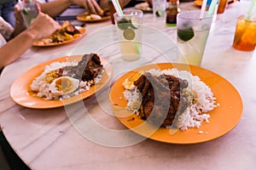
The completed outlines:
[[[99,14],[103,15],[104,11],[96,2],[96,0],[70,0],[70,3],[79,5],[85,8],[88,14]]]

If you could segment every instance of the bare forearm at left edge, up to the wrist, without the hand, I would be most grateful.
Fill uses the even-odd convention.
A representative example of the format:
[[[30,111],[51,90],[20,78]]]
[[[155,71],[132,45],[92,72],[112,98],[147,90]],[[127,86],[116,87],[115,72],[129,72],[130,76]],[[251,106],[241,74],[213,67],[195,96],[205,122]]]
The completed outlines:
[[[0,69],[18,59],[35,41],[36,32],[26,30],[0,48]],[[15,48],[15,50],[14,50]]]

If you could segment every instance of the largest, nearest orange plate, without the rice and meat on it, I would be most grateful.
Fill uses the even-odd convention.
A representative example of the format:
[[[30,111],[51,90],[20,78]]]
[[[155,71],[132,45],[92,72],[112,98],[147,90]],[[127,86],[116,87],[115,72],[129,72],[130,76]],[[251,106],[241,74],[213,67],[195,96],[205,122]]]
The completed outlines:
[[[125,78],[135,74],[136,71],[148,71],[152,68],[160,70],[177,68],[180,71],[190,71],[192,75],[200,77],[201,81],[205,82],[212,89],[212,93],[217,98],[217,103],[220,105],[209,112],[211,115],[209,118],[210,122],[202,122],[199,128],[189,128],[186,131],[177,130],[177,132],[172,135],[169,133],[169,129],[160,127],[156,129],[155,132],[153,131],[153,134],[150,133],[148,135],[148,132],[152,130],[153,126],[138,118],[137,115],[132,114],[131,111],[125,109],[127,101],[123,95],[125,88],[122,87],[122,82],[125,81]],[[220,77],[212,71],[193,65],[161,63],[137,68],[134,71],[126,73],[113,84],[109,97],[114,115],[117,116],[125,127],[149,139],[171,144],[196,144],[217,139],[235,127],[242,114],[242,101],[236,88],[225,80],[224,77]]]

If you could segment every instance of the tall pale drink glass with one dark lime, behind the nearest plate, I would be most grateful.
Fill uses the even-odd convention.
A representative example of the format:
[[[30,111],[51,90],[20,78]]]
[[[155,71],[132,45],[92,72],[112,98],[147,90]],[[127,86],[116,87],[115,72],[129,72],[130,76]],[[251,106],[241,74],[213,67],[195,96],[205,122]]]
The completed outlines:
[[[212,25],[212,16],[200,11],[184,11],[177,14],[177,61],[189,65],[201,65]]]

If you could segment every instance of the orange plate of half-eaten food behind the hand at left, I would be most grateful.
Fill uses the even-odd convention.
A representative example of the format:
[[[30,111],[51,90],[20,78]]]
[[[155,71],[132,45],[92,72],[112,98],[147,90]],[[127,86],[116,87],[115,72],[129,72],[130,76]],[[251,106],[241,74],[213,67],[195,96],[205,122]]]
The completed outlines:
[[[80,37],[83,37],[85,32],[86,30],[84,27],[73,26],[69,21],[65,20],[62,23],[60,30],[55,31],[49,37],[33,42],[32,45],[35,47],[58,46],[73,42]]]

